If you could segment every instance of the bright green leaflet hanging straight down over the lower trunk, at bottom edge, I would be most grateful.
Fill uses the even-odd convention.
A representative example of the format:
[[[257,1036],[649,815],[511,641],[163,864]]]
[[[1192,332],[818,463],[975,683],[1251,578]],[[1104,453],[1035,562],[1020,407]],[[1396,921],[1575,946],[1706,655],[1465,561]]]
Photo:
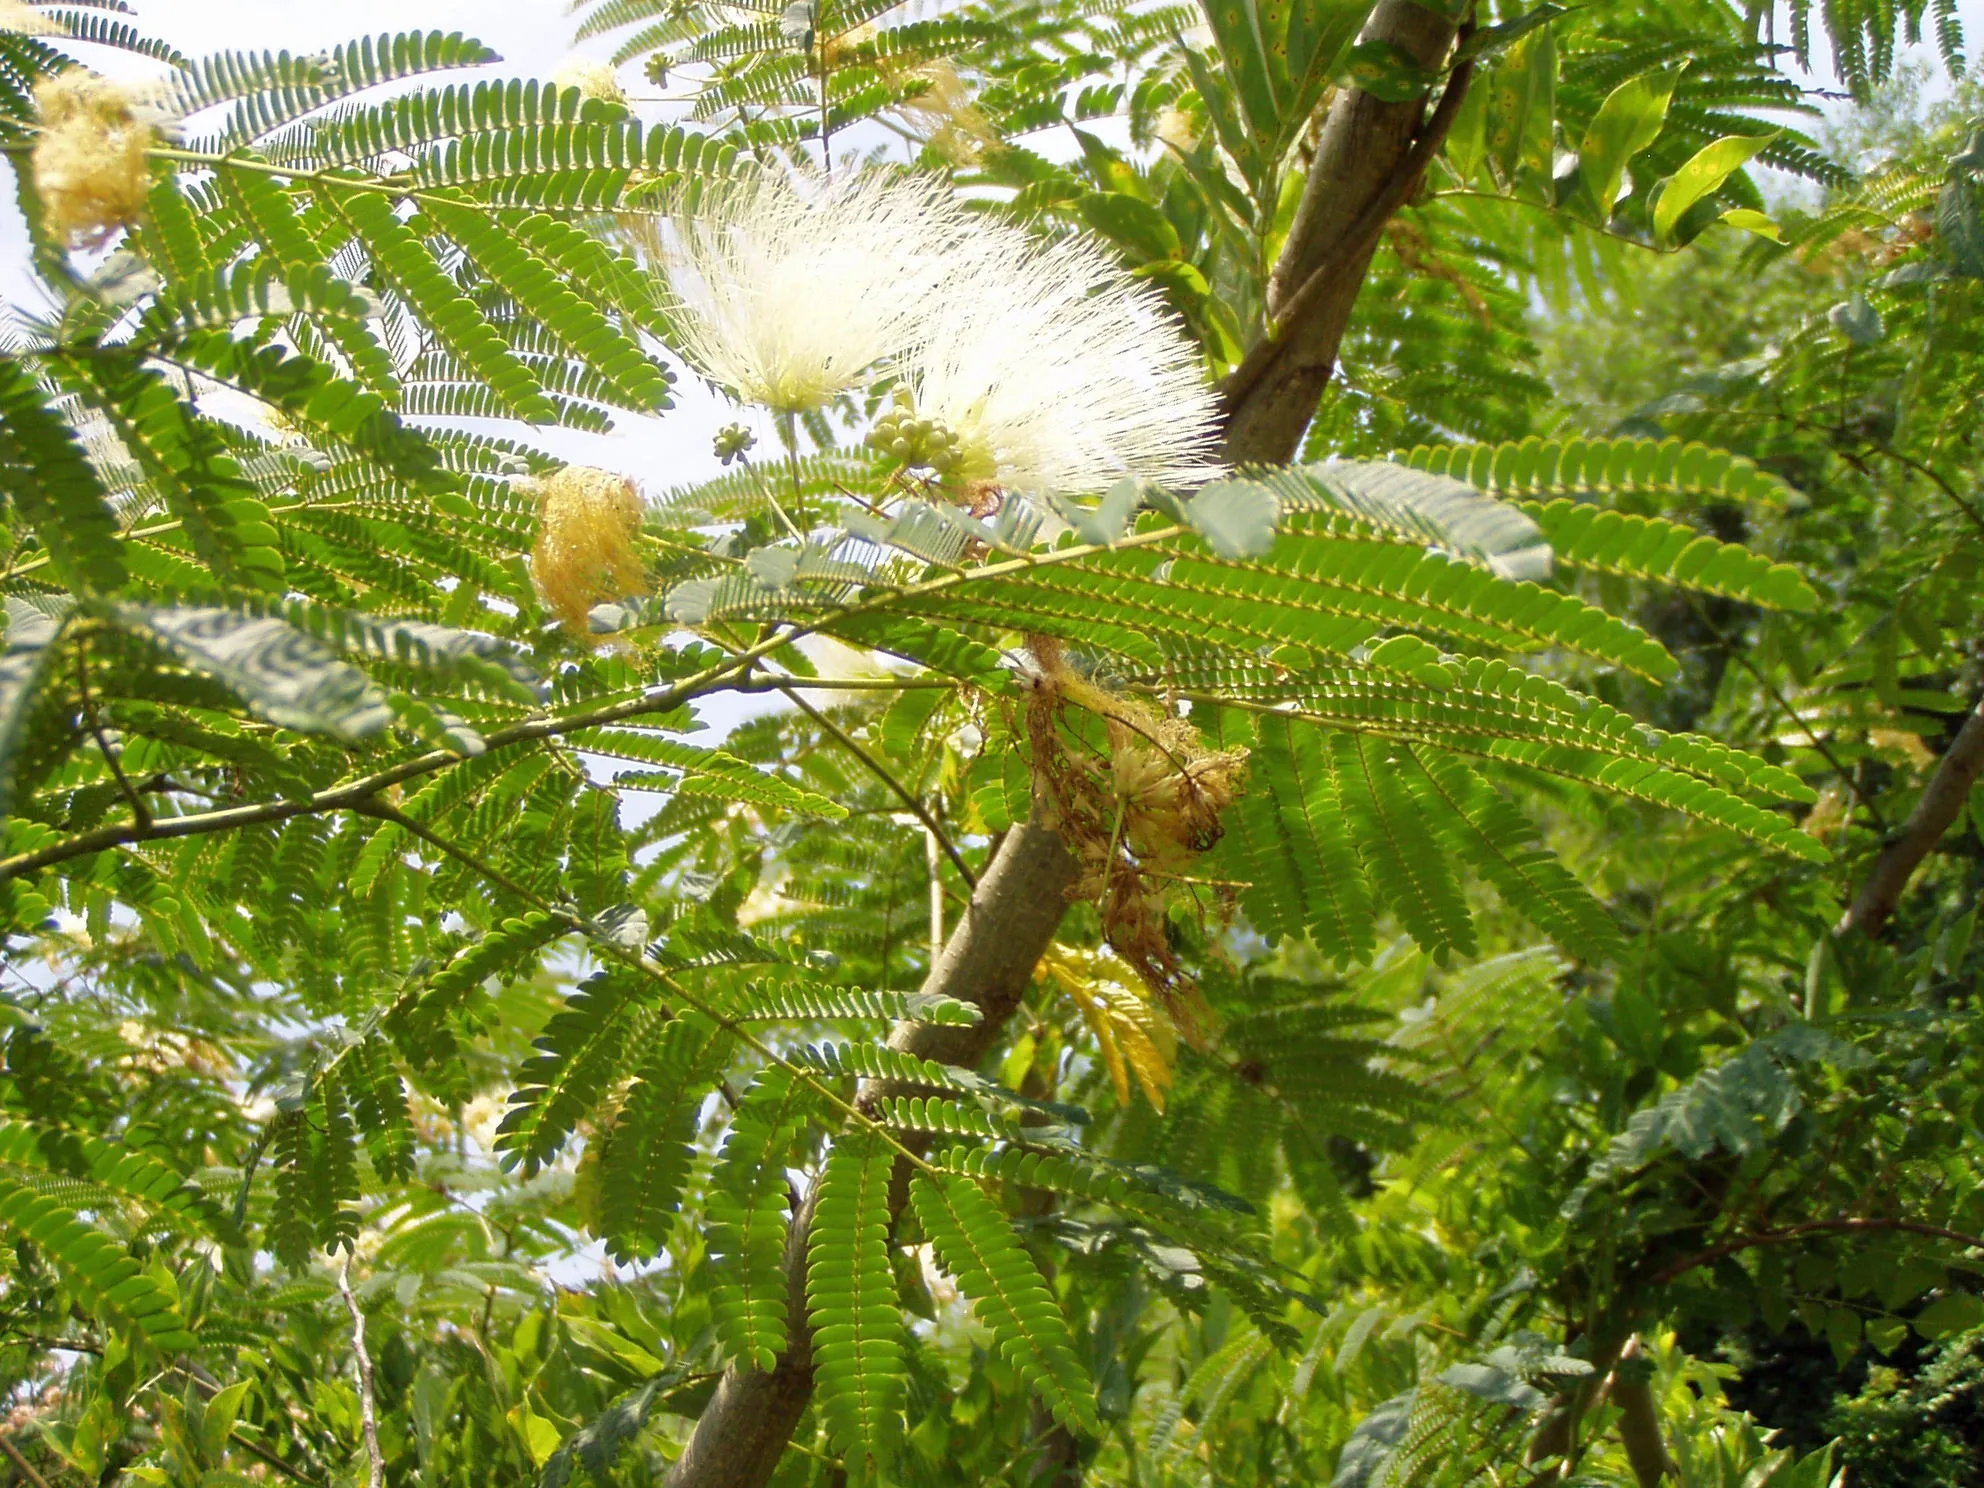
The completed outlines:
[[[855,1482],[885,1476],[909,1387],[889,1266],[893,1173],[895,1149],[879,1135],[841,1137],[819,1178],[807,1236],[813,1399]]]

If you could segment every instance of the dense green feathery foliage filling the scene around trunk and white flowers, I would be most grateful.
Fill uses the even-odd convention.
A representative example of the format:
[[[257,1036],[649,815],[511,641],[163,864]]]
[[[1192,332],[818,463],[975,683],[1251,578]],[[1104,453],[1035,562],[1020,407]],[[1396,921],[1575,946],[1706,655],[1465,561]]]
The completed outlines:
[[[782,1484],[1978,1482],[1984,796],[1839,929],[1984,688],[1952,6],[1823,8],[1859,143],[1722,0],[577,10],[681,117],[0,8],[6,1470],[631,1488],[804,1339]],[[101,46],[183,119],[109,252]],[[532,429],[667,417],[637,250],[754,163],[1246,379],[1319,111],[1442,87],[1300,462],[966,510],[863,387],[554,591]],[[925,1059],[1036,800],[1093,881]]]

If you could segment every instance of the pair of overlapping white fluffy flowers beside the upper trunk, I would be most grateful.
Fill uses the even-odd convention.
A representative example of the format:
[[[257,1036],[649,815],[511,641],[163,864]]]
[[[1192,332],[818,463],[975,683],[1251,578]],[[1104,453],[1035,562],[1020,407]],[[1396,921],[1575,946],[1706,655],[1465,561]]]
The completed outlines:
[[[746,403],[817,409],[881,377],[956,444],[954,484],[1093,492],[1212,468],[1216,407],[1163,300],[881,171],[750,177],[661,246],[682,349]]]

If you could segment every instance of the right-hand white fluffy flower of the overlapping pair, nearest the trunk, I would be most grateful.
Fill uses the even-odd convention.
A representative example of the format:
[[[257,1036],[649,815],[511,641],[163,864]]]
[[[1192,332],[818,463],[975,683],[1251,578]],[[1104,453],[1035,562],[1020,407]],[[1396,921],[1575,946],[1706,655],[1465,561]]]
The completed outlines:
[[[982,226],[897,363],[958,476],[1026,492],[1216,470],[1218,407],[1165,302],[1081,240]]]

